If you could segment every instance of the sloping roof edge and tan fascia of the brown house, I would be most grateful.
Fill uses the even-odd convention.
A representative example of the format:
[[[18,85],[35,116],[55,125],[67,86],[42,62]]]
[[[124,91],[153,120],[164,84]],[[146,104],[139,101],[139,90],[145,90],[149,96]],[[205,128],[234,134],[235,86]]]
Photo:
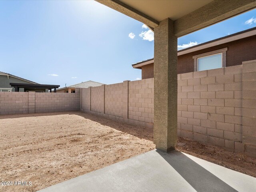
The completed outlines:
[[[256,35],[256,27],[253,27],[253,28],[250,28],[250,29],[247,29],[244,31],[240,31],[240,32],[228,35],[228,36],[224,36],[224,37],[221,37],[218,39],[214,39],[214,40],[211,40],[208,42],[204,42],[204,43],[201,43],[201,44],[198,44],[198,45],[186,48],[186,49],[179,50],[178,56],[184,55],[187,53],[191,53],[191,52],[195,52],[198,50],[206,49],[209,47],[217,46],[220,44],[232,42],[232,41],[239,40],[242,38],[254,36],[254,35]],[[132,67],[133,68],[141,68],[141,66],[151,64],[151,63],[154,63],[154,58],[134,63],[134,64],[132,64]]]

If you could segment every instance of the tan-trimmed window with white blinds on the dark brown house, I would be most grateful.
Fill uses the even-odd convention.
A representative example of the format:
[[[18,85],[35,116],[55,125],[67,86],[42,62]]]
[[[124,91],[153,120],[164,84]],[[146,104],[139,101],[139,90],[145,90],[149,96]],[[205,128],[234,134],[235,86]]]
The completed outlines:
[[[226,67],[227,50],[228,48],[222,48],[193,56],[194,71],[204,71]]]

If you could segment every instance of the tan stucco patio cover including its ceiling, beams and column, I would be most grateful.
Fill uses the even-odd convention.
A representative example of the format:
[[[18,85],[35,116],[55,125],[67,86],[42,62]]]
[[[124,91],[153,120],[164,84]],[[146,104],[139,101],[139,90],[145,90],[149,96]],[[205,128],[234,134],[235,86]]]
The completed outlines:
[[[256,8],[255,0],[96,0],[154,30],[154,144],[177,144],[177,38]]]

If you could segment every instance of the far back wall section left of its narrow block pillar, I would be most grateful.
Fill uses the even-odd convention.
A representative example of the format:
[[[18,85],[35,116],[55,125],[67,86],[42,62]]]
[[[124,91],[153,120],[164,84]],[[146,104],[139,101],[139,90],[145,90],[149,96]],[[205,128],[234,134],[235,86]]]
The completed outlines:
[[[28,113],[28,92],[0,92],[0,115]]]

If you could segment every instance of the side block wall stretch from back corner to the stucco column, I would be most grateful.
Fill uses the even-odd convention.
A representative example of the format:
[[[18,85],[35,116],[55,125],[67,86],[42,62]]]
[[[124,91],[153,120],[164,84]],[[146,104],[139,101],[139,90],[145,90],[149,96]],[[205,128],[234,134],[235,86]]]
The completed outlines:
[[[153,128],[153,78],[139,81],[124,81],[101,87],[82,88],[82,111],[120,122]],[[102,97],[103,93],[104,98]],[[96,94],[100,96],[96,98]],[[97,108],[101,110],[93,108],[93,105],[96,106],[96,103],[98,104]]]

